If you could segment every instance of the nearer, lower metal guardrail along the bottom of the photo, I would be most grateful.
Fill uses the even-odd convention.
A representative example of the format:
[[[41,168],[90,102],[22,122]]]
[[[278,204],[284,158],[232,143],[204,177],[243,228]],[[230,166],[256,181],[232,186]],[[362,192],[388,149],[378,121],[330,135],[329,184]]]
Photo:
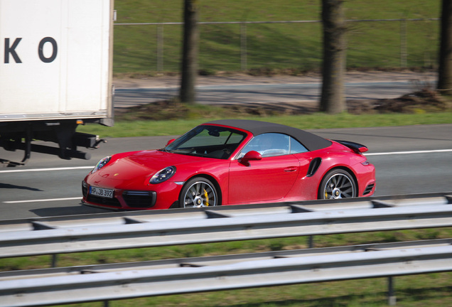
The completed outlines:
[[[451,271],[451,243],[452,239],[439,239],[4,272],[0,273],[0,306],[81,303]]]

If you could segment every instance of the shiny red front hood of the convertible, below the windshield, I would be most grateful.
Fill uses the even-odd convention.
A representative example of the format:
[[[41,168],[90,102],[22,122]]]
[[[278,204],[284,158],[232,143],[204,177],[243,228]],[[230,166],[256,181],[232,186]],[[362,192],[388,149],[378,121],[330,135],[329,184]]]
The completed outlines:
[[[102,178],[129,181],[141,176],[148,177],[167,166],[178,166],[183,163],[197,163],[204,158],[171,154],[165,151],[138,151],[129,156],[112,161],[97,171]],[[114,160],[114,156],[112,157]]]

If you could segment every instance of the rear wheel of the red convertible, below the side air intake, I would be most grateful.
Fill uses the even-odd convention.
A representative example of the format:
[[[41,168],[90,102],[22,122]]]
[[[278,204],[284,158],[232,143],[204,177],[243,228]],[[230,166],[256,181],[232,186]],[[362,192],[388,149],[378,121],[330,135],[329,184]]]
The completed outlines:
[[[357,196],[353,176],[343,169],[333,169],[323,177],[318,189],[319,199],[353,198]]]

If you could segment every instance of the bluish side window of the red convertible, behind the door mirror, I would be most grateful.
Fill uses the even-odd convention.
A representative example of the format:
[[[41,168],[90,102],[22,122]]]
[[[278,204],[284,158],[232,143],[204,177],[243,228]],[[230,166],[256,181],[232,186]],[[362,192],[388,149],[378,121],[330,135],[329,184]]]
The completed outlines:
[[[248,151],[257,151],[262,155],[262,157],[282,156],[289,154],[290,139],[290,136],[287,136],[286,134],[259,134],[258,136],[254,136],[254,138],[249,141],[246,146],[244,146],[240,156],[244,156],[244,154]]]

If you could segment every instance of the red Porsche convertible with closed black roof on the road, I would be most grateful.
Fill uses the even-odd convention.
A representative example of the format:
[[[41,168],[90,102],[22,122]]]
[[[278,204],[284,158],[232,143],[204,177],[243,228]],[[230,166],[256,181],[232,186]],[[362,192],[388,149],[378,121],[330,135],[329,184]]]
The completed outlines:
[[[281,124],[217,120],[163,149],[103,158],[82,181],[82,202],[144,210],[370,196],[365,151]]]

